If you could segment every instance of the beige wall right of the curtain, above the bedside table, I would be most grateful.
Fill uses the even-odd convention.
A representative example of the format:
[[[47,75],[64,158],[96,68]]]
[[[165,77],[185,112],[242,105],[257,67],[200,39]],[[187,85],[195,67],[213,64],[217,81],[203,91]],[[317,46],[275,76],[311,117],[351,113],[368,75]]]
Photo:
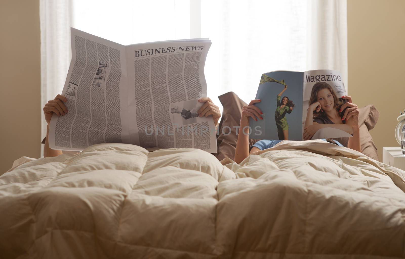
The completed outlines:
[[[396,117],[405,109],[405,1],[347,0],[347,44],[349,95],[379,110],[370,133],[382,161],[382,147],[399,146]]]

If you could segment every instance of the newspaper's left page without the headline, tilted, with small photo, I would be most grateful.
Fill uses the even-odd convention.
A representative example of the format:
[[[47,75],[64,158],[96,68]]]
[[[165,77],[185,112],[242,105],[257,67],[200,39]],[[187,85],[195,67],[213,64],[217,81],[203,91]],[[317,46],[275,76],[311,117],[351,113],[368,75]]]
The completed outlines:
[[[49,147],[83,150],[97,143],[128,143],[125,46],[74,28],[70,40],[72,61],[62,91],[68,113],[53,115]]]

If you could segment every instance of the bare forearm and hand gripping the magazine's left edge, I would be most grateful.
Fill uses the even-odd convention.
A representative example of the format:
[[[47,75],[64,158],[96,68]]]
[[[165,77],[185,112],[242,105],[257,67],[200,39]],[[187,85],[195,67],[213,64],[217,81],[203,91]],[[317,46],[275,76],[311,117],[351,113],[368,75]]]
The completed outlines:
[[[257,121],[256,117],[260,120],[263,119],[262,116],[259,115],[263,113],[258,107],[254,106],[254,103],[259,102],[260,100],[258,99],[252,100],[249,105],[243,106],[242,108],[241,123],[239,124],[240,128],[234,157],[234,161],[238,164],[249,156],[249,117],[255,121]]]

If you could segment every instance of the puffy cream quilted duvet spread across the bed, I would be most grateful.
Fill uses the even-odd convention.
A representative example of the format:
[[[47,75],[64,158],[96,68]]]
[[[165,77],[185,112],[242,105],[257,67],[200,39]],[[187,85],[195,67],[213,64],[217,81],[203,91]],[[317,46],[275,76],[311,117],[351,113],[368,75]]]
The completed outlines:
[[[404,258],[404,176],[324,141],[98,144],[0,176],[0,258]]]

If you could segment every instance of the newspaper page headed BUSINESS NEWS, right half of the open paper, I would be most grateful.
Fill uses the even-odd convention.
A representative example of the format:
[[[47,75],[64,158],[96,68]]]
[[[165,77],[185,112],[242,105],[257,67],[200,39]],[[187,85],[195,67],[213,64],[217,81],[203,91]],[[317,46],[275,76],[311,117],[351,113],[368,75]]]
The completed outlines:
[[[207,96],[210,46],[207,39],[126,46],[130,143],[217,152],[213,118],[197,113],[198,99]]]

